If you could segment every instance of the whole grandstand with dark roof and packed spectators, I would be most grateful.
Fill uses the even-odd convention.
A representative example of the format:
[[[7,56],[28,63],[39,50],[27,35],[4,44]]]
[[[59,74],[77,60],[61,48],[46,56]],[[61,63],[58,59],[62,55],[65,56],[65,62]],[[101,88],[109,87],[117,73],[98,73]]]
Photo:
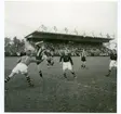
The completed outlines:
[[[54,52],[54,55],[59,55],[65,48],[70,51],[71,55],[78,55],[82,49],[85,49],[88,55],[108,55],[109,49],[104,47],[103,43],[112,40],[111,38],[37,30],[27,35],[25,38],[32,46],[37,41],[44,41],[46,47]]]

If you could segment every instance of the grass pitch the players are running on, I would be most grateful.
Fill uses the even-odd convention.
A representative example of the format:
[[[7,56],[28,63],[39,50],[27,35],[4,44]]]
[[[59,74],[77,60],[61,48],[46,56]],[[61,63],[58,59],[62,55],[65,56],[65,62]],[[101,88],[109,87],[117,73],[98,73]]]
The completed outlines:
[[[17,58],[5,58],[5,77],[16,64]],[[108,72],[109,58],[89,56],[86,69],[82,69],[79,58],[72,58],[77,79],[67,72],[64,78],[59,58],[48,68],[45,62],[40,65],[43,79],[37,65],[29,66],[33,88],[29,88],[26,78],[18,74],[5,84],[5,112],[117,112],[117,71]]]

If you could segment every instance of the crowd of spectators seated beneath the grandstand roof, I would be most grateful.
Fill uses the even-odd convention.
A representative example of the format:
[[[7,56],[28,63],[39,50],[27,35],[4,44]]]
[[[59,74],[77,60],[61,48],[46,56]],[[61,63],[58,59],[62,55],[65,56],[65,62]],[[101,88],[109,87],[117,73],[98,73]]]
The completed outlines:
[[[33,45],[33,43],[32,43]],[[108,55],[109,49],[103,45],[89,45],[89,43],[76,43],[76,42],[44,42],[44,46],[48,50],[53,51],[54,55],[60,55],[64,50],[68,50],[69,53],[73,56],[79,55],[84,49],[86,55],[98,56],[98,55]]]

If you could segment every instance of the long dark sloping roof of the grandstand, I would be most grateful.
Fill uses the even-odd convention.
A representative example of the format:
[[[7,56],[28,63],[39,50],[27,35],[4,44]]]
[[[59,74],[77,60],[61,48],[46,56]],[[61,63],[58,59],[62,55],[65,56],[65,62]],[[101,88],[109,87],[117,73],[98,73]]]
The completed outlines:
[[[80,36],[70,34],[46,33],[46,31],[33,31],[25,37],[27,40],[64,40],[64,41],[80,41],[80,42],[109,42],[111,38],[100,38],[91,36]]]

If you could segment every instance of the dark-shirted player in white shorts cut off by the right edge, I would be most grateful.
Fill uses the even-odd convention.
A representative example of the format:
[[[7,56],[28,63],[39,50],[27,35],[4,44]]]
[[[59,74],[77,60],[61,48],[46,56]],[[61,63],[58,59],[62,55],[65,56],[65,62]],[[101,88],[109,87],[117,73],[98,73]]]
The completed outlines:
[[[110,64],[107,77],[110,75],[112,67],[117,67],[117,51],[113,49],[110,53]]]

